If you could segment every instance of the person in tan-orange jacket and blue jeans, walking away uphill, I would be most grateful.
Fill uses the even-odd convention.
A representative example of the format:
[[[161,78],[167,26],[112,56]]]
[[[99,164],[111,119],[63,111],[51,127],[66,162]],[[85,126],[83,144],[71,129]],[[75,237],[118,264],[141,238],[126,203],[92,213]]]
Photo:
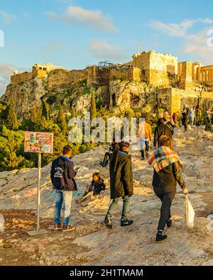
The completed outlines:
[[[139,142],[140,142],[141,159],[145,160],[144,152],[146,152],[146,157],[148,158],[149,143],[150,141],[152,141],[152,129],[146,116],[142,115],[141,118],[143,118],[144,121],[142,121],[138,125],[137,137],[139,138]]]

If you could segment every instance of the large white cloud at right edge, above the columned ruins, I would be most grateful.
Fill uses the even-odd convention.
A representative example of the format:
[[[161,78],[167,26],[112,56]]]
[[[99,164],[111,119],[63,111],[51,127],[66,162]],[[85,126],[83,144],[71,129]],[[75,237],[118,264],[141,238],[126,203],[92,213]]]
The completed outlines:
[[[206,65],[213,64],[213,47],[208,46],[207,33],[213,30],[213,26],[204,28],[195,34],[187,35],[183,42],[182,52],[192,55],[193,59],[203,62]]]

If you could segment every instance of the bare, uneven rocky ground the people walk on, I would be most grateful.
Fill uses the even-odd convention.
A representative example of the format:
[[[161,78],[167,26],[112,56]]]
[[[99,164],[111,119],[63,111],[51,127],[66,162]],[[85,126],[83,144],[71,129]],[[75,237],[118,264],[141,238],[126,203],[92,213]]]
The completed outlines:
[[[104,147],[74,157],[79,193],[84,191],[93,172],[102,172],[109,186],[109,172],[99,165]],[[54,191],[50,184],[50,164],[42,169],[41,228],[48,234],[29,237],[35,228],[36,169],[0,173],[0,214],[4,232],[0,233],[0,265],[212,265],[213,230],[207,217],[213,213],[213,134],[204,128],[175,133],[175,150],[184,167],[183,176],[195,208],[195,227],[185,223],[185,196],[178,187],[173,202],[173,227],[168,240],[155,244],[160,201],[153,194],[153,170],[132,152],[134,196],[131,199],[129,228],[119,225],[120,210],[114,215],[114,228],[104,227],[109,191],[82,204],[72,203],[72,223],[76,230],[55,233],[52,225]],[[75,194],[74,199],[78,196]],[[0,216],[0,220],[1,220]],[[2,223],[2,222],[0,222]],[[1,228],[0,228],[1,230]]]

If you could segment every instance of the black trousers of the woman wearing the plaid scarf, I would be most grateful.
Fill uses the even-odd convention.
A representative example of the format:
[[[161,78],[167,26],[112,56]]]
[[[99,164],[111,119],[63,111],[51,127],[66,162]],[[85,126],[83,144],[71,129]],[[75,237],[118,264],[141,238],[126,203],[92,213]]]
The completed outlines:
[[[164,230],[167,220],[171,218],[170,207],[176,194],[176,187],[171,187],[171,191],[165,193],[163,191],[163,187],[156,186],[154,187],[154,191],[156,196],[158,196],[158,198],[160,198],[160,201],[162,201],[158,230]]]

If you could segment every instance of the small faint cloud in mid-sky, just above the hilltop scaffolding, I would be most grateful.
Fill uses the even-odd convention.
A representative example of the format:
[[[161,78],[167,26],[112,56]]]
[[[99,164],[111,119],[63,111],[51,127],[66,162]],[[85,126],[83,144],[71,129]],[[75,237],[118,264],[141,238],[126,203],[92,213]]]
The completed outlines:
[[[104,40],[93,40],[90,44],[90,51],[99,60],[125,60],[124,50],[121,47],[110,45]]]

